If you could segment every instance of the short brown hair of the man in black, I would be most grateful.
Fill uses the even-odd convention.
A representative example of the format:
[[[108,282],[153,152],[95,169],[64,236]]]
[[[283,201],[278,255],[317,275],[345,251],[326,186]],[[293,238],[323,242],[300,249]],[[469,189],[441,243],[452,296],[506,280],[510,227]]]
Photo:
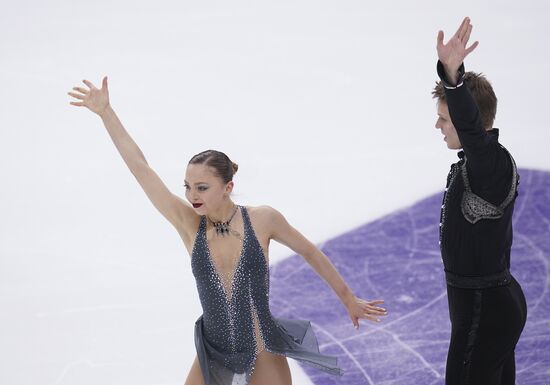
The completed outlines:
[[[491,83],[483,74],[475,72],[466,72],[464,83],[476,101],[483,127],[485,129],[493,127],[497,114],[497,97]],[[445,89],[441,81],[436,82],[432,96],[439,102],[445,102]]]

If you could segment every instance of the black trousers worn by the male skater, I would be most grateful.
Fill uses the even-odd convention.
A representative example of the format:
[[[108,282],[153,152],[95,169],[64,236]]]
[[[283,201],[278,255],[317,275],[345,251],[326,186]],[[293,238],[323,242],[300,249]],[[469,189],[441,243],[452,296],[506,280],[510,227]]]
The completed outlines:
[[[446,385],[514,385],[527,304],[519,283],[490,289],[447,286],[451,344]]]

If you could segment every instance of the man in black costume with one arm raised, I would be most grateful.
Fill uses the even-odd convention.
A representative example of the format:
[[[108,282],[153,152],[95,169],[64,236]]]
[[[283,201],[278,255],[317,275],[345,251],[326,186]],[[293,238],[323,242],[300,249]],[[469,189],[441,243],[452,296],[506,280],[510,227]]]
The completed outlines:
[[[510,274],[512,213],[519,176],[493,128],[497,99],[487,79],[464,72],[469,18],[443,43],[437,36],[432,94],[447,147],[461,151],[443,197],[440,246],[452,324],[446,385],[515,384],[514,349],[527,307]]]

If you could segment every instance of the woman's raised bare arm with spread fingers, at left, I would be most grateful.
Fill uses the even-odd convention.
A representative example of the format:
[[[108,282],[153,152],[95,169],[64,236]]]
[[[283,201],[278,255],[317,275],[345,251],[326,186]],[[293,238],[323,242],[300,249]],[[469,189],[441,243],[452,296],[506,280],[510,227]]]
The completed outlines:
[[[74,91],[69,92],[69,95],[78,99],[78,101],[73,101],[71,104],[78,107],[87,107],[90,111],[99,115],[122,159],[153,205],[174,225],[182,236],[188,238],[184,239],[186,242],[191,241],[191,235],[194,234],[198,225],[198,215],[191,206],[172,194],[155,171],[149,167],[140,148],[130,137],[115,111],[111,108],[107,77],[103,78],[100,89],[88,80],[83,82],[88,87],[87,89],[74,87]]]

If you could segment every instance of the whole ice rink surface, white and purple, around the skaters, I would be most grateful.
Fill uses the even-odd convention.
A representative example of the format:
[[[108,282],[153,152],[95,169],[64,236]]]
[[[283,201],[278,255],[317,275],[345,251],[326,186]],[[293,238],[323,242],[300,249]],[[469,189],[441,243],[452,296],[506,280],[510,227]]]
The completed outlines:
[[[550,383],[547,1],[21,0],[1,10],[0,384],[181,385],[195,356],[201,309],[181,240],[101,121],[69,105],[71,87],[103,75],[175,194],[192,155],[223,150],[240,166],[237,203],[277,208],[361,294],[386,300],[387,320],[356,333],[321,281],[286,259],[293,252],[271,245],[274,311],[311,315],[323,350],[348,369],[342,383],[409,372],[441,383],[449,325],[431,226],[456,154],[433,128],[430,91],[437,31],[450,36],[466,15],[480,41],[466,68],[492,81],[495,126],[522,168],[512,269],[530,313],[518,384]],[[302,285],[297,301],[285,279]],[[329,302],[315,309],[298,300],[319,293]],[[332,381],[291,365],[295,385]]]

